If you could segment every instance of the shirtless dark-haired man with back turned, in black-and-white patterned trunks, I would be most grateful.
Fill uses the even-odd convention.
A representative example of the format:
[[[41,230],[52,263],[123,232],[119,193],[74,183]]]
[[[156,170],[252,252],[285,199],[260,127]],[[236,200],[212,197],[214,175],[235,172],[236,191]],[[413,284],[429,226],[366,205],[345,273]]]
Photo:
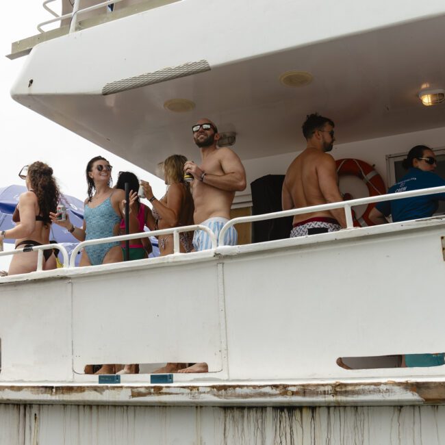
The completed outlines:
[[[306,149],[286,172],[281,203],[283,210],[343,201],[338,189],[335,160],[327,152],[333,148],[334,123],[319,114],[309,114],[303,123]],[[344,209],[322,210],[295,215],[290,238],[337,231],[346,227]]]

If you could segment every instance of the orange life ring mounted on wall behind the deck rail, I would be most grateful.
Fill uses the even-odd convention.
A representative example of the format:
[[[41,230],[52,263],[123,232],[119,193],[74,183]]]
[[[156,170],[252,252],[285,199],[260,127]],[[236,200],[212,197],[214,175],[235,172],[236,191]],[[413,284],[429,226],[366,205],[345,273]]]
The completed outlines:
[[[353,175],[363,179],[368,187],[369,196],[377,196],[386,193],[386,187],[382,177],[367,162],[358,159],[339,159],[335,161],[335,164],[337,164],[337,173],[339,176]],[[354,225],[357,224],[359,227],[374,225],[369,219],[370,211],[374,206],[374,203],[369,204],[368,207],[366,207],[364,214],[355,221]]]

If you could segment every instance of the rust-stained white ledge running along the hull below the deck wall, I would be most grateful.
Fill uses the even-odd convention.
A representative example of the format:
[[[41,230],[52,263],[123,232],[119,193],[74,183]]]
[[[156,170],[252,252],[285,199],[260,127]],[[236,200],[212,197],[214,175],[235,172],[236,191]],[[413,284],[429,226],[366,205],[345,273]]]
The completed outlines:
[[[242,404],[275,403],[283,401],[289,405],[345,405],[372,399],[372,403],[387,403],[387,400],[405,400],[405,403],[445,403],[445,381],[418,382],[368,382],[368,383],[305,383],[305,384],[227,384],[227,385],[1,385],[0,403],[17,400],[7,392],[23,394],[23,400],[41,398],[40,403],[131,403],[146,399],[147,403],[232,403]],[[28,397],[26,398],[26,395]],[[18,397],[20,398],[20,397]],[[152,399],[152,400],[151,400]],[[157,400],[155,400],[157,399]],[[168,400],[170,399],[170,401]],[[141,400],[141,402],[143,402]]]

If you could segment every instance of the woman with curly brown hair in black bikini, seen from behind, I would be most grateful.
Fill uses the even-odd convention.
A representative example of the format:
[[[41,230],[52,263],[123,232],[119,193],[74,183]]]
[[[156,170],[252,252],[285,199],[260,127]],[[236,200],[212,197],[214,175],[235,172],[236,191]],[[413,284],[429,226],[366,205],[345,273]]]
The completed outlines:
[[[16,223],[14,229],[3,230],[1,239],[16,239],[16,249],[49,244],[51,227],[50,212],[55,212],[60,192],[53,177],[53,169],[43,162],[33,162],[22,168],[19,176],[26,179],[27,191],[18,199],[18,205],[12,215]],[[16,254],[12,257],[8,275],[34,272],[37,270],[37,252]],[[55,267],[55,262],[49,262],[53,251],[43,252],[43,269]]]

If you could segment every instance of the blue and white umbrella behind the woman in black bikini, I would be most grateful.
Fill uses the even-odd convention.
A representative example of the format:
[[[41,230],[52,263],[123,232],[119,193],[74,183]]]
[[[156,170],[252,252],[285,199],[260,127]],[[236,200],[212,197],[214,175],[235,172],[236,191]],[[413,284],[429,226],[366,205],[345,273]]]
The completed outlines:
[[[26,190],[27,188],[24,186],[0,188],[0,230],[8,230],[15,227],[15,223],[12,221],[12,214],[18,203],[18,196]],[[77,227],[82,227],[84,224],[84,203],[80,199],[66,194],[61,196],[60,201],[66,206],[66,212],[71,223]],[[66,229],[55,224],[51,225],[49,239],[55,240],[60,244],[77,244],[79,242]],[[7,239],[5,242],[14,243],[15,240]]]

